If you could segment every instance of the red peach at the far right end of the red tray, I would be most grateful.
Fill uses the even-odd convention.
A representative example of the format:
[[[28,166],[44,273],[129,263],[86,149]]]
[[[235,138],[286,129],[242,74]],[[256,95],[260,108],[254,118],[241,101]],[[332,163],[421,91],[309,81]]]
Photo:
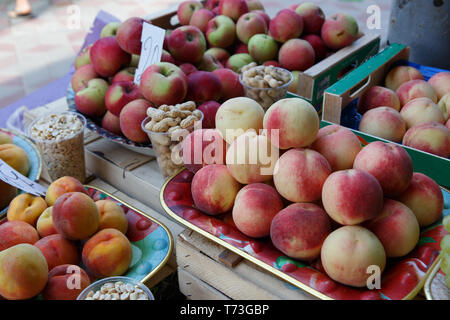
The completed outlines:
[[[412,210],[421,227],[439,220],[444,209],[444,196],[439,185],[419,172],[414,172],[408,189],[397,200]]]

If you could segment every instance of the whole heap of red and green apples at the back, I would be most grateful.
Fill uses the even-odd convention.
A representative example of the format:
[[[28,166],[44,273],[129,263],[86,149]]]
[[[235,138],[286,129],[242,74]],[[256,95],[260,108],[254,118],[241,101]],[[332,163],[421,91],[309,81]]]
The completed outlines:
[[[141,129],[146,109],[194,101],[203,126],[214,128],[220,103],[244,96],[240,69],[253,61],[291,70],[294,79],[358,37],[355,19],[326,19],[320,7],[302,3],[271,19],[258,0],[184,1],[180,27],[166,30],[161,62],[134,83],[141,53],[142,18],[107,24],[100,39],[76,58],[71,85],[75,106],[107,131],[148,143]],[[301,37],[301,38],[300,38]],[[296,92],[297,81],[291,84]]]

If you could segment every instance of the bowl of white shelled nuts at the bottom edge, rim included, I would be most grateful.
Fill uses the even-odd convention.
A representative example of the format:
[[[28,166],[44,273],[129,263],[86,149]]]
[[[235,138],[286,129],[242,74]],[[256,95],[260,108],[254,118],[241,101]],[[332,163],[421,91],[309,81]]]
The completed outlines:
[[[146,285],[129,277],[108,277],[85,288],[77,300],[155,300]]]

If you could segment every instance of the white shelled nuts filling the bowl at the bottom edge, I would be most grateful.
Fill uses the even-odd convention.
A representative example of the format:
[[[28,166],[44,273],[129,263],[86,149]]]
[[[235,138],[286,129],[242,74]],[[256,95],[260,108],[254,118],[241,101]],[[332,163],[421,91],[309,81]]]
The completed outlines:
[[[117,281],[107,282],[95,292],[89,291],[84,300],[149,300],[149,297],[138,286]]]

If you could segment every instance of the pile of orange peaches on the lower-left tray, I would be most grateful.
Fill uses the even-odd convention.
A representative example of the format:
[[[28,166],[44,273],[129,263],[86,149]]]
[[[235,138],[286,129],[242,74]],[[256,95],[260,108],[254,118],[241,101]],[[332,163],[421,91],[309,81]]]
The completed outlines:
[[[0,297],[75,300],[91,280],[124,274],[127,229],[116,202],[94,202],[72,177],[54,181],[45,199],[18,195],[0,224]]]

